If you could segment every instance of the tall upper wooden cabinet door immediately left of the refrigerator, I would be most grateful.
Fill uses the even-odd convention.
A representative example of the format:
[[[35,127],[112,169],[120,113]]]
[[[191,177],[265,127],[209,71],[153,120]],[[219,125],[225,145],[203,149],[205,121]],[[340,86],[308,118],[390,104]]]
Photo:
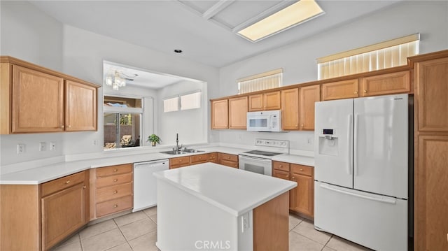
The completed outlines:
[[[300,87],[300,130],[314,130],[314,103],[321,100],[319,85]]]

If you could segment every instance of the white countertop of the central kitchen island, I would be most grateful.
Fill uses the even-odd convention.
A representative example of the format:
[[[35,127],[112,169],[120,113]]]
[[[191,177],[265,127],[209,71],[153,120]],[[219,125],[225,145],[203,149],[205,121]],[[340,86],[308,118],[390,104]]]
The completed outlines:
[[[160,171],[154,175],[235,216],[297,186],[296,182],[289,180],[210,162]]]

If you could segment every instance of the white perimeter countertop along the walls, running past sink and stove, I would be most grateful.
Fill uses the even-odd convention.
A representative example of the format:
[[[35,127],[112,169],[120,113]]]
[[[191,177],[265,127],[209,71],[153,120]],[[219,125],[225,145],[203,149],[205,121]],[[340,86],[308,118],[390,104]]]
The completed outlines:
[[[148,162],[158,159],[170,159],[174,157],[183,157],[190,155],[200,155],[209,152],[223,152],[231,155],[238,155],[241,152],[246,152],[248,148],[231,148],[224,146],[202,147],[195,148],[203,150],[204,152],[187,153],[183,155],[167,155],[160,152],[148,152],[139,154],[129,154],[122,156],[111,156],[111,153],[104,154],[101,157],[95,157],[85,160],[76,160],[71,162],[57,162],[54,164],[33,165],[26,170],[6,173],[0,175],[0,185],[38,185],[43,182],[55,180],[79,171],[84,171],[89,168],[97,168],[102,166],[113,166],[118,164],[128,164],[137,162]],[[161,149],[162,151],[163,149]],[[273,158],[279,162],[290,162],[294,164],[303,164],[307,166],[314,166],[314,159],[312,157],[304,157],[299,155],[281,155]],[[3,167],[2,167],[3,168]]]

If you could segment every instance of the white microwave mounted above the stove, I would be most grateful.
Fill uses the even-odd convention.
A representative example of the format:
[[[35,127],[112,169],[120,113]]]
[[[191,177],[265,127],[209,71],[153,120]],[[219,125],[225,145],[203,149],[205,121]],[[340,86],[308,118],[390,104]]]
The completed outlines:
[[[281,110],[248,112],[247,131],[282,131]]]

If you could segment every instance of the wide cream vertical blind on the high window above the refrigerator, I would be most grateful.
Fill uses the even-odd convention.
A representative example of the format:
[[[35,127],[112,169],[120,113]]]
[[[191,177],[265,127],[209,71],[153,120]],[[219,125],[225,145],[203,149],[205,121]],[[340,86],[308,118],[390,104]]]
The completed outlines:
[[[412,34],[318,58],[318,80],[406,65],[407,57],[419,54],[419,40]]]

